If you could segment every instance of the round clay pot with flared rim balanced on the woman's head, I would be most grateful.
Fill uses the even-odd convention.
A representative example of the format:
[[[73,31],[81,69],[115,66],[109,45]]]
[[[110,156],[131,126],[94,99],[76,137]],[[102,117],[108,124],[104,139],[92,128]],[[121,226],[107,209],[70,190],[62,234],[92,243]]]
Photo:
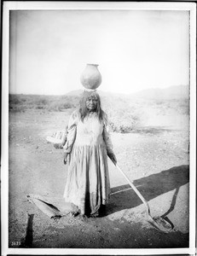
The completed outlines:
[[[101,84],[101,73],[97,64],[87,64],[84,72],[81,74],[81,83],[84,88],[96,90]]]

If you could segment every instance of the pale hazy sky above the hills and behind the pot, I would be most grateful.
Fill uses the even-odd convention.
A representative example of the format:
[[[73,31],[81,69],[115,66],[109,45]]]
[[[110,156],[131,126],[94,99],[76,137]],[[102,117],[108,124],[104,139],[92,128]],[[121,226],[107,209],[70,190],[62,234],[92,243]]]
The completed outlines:
[[[188,11],[11,11],[10,93],[83,89],[86,63],[99,64],[100,90],[188,84]]]

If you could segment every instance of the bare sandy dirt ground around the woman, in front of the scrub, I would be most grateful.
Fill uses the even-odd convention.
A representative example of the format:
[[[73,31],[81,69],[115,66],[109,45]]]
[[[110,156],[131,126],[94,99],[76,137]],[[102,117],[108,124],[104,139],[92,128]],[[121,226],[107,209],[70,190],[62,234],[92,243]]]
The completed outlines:
[[[188,247],[187,125],[112,134],[119,166],[142,192],[152,215],[171,221],[174,229],[169,234],[147,222],[142,202],[110,162],[112,195],[106,217],[84,220],[67,215],[55,221],[26,201],[28,194],[63,194],[63,152],[45,137],[64,128],[68,117],[66,112],[39,111],[9,115],[9,247],[23,244],[27,212],[32,214],[29,247]]]

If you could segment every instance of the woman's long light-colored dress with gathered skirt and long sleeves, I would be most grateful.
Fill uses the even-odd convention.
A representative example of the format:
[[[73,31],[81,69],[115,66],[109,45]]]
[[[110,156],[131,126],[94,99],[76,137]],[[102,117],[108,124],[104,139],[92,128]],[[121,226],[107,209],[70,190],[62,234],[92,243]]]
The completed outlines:
[[[78,110],[69,119],[65,152],[71,153],[65,201],[73,203],[81,214],[94,214],[106,205],[110,193],[107,151],[113,146],[107,131],[107,114],[100,121],[96,113],[80,119]]]

